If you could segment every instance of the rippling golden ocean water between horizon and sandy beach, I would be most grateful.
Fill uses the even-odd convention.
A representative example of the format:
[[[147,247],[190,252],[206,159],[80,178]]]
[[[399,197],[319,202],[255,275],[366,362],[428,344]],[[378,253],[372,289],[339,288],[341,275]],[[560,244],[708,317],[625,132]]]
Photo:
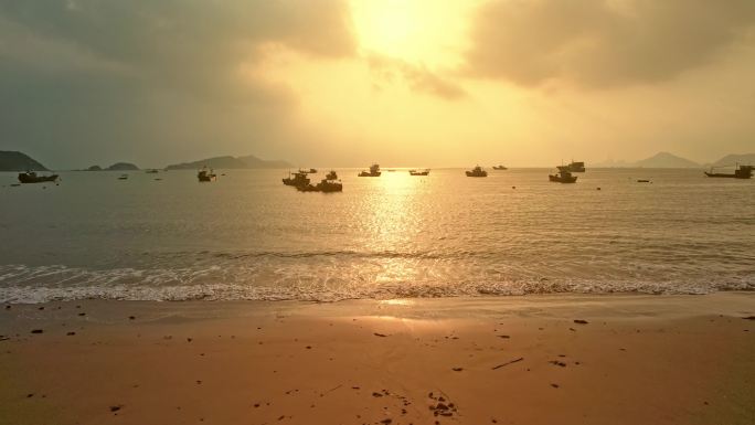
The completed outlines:
[[[755,289],[755,180],[338,171],[344,190],[330,194],[283,185],[285,170],[213,183],[194,171],[63,172],[60,185],[21,187],[0,173],[0,301]]]

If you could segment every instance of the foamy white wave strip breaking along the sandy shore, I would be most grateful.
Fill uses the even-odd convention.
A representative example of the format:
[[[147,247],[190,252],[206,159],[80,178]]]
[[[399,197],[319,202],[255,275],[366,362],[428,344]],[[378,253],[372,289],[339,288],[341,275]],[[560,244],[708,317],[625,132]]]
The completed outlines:
[[[205,269],[93,270],[65,266],[0,266],[0,302],[46,302],[77,299],[113,300],[302,300],[392,299],[518,296],[529,294],[710,294],[755,290],[752,275],[698,279],[549,278],[464,279],[386,278],[329,274],[245,275],[222,267]]]

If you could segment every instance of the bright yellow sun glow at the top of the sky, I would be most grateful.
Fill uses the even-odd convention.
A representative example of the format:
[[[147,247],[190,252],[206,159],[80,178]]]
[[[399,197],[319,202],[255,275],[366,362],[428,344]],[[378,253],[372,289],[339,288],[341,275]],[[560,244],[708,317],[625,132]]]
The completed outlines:
[[[466,42],[470,0],[352,0],[363,53],[408,62],[453,63]]]

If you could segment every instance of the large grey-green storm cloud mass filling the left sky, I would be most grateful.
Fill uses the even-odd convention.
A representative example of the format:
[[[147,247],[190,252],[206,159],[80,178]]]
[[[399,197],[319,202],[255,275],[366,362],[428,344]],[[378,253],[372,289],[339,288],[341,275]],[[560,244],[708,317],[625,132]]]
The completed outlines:
[[[67,163],[93,150],[185,152],[209,141],[226,144],[217,153],[244,140],[253,151],[255,140],[290,136],[290,94],[241,72],[275,45],[352,55],[347,6],[0,0],[0,145]]]

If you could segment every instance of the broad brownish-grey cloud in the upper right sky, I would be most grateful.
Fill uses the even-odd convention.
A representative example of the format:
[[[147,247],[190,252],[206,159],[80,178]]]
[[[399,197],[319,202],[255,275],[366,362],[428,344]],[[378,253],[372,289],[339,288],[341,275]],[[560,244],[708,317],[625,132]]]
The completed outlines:
[[[672,79],[744,42],[752,0],[493,0],[476,13],[466,73],[523,86]]]

